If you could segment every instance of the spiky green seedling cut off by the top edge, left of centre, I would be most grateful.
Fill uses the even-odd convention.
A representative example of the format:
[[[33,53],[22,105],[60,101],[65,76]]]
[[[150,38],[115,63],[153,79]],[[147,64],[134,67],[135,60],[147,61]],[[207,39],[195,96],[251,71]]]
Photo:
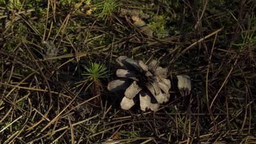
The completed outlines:
[[[105,0],[105,1],[96,1],[96,14],[102,18],[102,20],[107,22],[107,20],[112,19],[114,12],[120,6],[119,0]]]

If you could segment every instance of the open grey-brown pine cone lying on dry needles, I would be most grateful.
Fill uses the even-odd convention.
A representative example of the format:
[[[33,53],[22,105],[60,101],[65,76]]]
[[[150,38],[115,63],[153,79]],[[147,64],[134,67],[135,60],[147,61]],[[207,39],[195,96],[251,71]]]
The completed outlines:
[[[169,100],[171,81],[167,79],[168,70],[159,67],[158,61],[152,60],[146,65],[126,56],[120,56],[116,61],[121,66],[116,73],[121,79],[109,82],[108,90],[113,92],[126,89],[120,103],[122,109],[129,110],[139,101],[141,110],[155,111],[159,104]]]

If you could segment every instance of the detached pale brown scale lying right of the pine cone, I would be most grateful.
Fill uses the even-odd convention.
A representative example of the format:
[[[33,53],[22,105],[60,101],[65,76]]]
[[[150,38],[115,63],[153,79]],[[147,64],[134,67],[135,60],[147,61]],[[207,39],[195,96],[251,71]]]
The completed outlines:
[[[177,75],[178,88],[182,97],[189,95],[191,91],[191,81],[188,75]]]

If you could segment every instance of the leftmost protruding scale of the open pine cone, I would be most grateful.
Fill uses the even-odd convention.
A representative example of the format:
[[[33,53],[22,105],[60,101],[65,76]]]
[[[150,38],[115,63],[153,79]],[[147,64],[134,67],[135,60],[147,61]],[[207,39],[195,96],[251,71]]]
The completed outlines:
[[[124,90],[130,85],[131,85],[131,80],[129,79],[114,80],[108,83],[108,91],[115,92],[115,91]]]

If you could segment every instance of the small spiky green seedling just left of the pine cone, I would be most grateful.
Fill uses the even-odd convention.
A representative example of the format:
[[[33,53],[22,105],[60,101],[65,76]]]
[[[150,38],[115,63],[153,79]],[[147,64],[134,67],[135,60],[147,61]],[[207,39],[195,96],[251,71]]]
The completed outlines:
[[[91,92],[95,93],[96,95],[100,94],[100,90],[102,89],[102,83],[100,79],[106,78],[109,76],[106,66],[104,64],[100,63],[90,63],[89,67],[86,67],[84,65],[84,80],[81,82],[89,82],[88,87],[86,87],[85,90],[87,90],[89,87],[91,87]],[[78,82],[80,83],[80,82]]]

